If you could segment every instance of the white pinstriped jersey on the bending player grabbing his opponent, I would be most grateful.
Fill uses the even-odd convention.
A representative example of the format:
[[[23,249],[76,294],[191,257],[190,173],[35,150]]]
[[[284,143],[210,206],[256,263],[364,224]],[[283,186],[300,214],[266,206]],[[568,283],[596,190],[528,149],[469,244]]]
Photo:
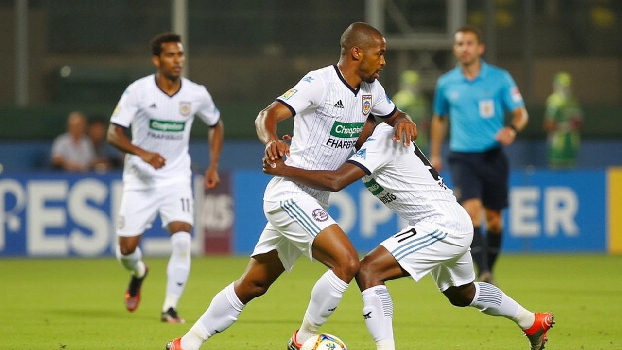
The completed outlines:
[[[416,144],[391,140],[391,126],[380,123],[361,149],[348,159],[365,173],[363,183],[374,196],[409,225],[434,222],[455,232],[472,232],[470,217],[443,183]]]

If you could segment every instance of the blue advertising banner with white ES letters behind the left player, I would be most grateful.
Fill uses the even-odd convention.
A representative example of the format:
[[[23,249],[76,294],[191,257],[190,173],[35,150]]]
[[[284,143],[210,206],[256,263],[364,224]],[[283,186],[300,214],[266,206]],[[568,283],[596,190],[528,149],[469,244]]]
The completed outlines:
[[[121,173],[0,177],[0,256],[111,255]],[[147,255],[170,250],[159,218],[143,236]]]

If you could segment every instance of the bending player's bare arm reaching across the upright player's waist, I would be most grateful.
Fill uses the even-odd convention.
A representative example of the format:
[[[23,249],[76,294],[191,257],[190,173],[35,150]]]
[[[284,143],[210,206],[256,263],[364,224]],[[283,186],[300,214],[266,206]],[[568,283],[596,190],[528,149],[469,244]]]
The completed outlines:
[[[264,162],[264,173],[276,176],[283,176],[300,182],[305,186],[322,191],[341,191],[352,182],[365,176],[363,169],[350,163],[344,163],[337,170],[305,170],[285,165],[283,159],[275,159]]]

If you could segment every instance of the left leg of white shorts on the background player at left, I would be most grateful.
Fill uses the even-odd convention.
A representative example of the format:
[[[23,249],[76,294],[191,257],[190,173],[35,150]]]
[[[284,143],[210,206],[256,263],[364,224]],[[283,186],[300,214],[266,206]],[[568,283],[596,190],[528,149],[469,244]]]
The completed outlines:
[[[156,219],[159,199],[156,189],[124,190],[116,234],[119,237],[142,235]]]

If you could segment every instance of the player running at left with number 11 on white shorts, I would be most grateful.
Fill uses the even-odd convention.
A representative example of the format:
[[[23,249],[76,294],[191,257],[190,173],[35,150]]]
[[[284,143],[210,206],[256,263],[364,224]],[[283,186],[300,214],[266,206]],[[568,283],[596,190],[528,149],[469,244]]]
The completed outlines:
[[[108,142],[127,153],[116,257],[131,272],[125,304],[134,311],[147,275],[138,244],[159,213],[163,227],[169,230],[172,247],[162,321],[183,323],[177,314],[177,302],[190,272],[190,230],[194,221],[188,140],[197,115],[210,126],[210,166],[205,171],[205,188],[215,187],[219,182],[223,122],[205,87],[181,76],[185,57],[180,36],[157,35],[151,50],[157,72],[126,88],[108,128]],[[124,133],[129,126],[131,141]]]

